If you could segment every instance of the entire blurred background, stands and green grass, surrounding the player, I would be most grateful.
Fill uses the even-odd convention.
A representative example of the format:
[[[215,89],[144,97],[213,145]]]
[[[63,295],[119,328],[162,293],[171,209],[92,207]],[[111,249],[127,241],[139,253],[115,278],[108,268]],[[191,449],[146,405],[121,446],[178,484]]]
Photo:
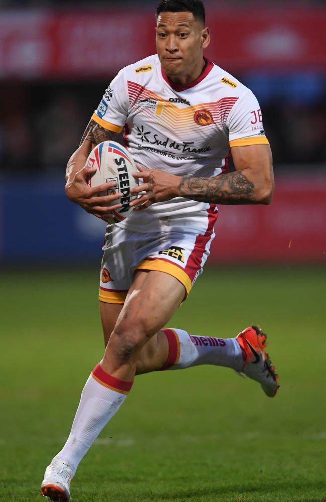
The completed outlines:
[[[4,502],[40,499],[103,353],[104,223],[66,198],[64,173],[110,80],[155,51],[155,5],[0,0]],[[215,367],[139,377],[81,464],[79,502],[326,501],[326,3],[205,5],[207,56],[263,109],[276,190],[267,207],[220,207],[206,273],[170,326],[233,336],[261,322],[281,391],[267,400]]]

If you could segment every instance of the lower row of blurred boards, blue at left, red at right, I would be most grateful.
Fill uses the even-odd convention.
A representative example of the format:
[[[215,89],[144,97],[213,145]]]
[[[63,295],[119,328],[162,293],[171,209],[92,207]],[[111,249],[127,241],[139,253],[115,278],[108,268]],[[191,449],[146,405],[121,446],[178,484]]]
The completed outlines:
[[[61,179],[20,179],[20,205],[13,205],[15,197],[17,181],[2,183],[0,263],[100,260],[104,222],[72,204]],[[18,245],[21,207],[31,224],[20,227]],[[219,210],[208,264],[325,263],[325,176],[280,177],[269,206],[220,205]]]

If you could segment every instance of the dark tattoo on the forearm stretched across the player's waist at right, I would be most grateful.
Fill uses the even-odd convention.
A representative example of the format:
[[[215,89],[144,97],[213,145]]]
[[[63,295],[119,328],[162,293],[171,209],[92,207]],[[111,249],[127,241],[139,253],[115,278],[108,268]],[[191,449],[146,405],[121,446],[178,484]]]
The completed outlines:
[[[180,194],[199,202],[243,204],[254,202],[255,185],[241,171],[222,174],[217,178],[183,176]]]

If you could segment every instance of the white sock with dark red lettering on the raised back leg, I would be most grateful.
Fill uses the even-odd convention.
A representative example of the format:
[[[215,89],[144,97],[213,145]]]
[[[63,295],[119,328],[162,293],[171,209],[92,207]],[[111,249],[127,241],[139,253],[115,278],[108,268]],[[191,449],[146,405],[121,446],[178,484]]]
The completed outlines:
[[[164,369],[183,369],[200,364],[215,364],[235,370],[243,367],[244,357],[235,338],[190,335],[183,329],[162,329],[169,342]]]

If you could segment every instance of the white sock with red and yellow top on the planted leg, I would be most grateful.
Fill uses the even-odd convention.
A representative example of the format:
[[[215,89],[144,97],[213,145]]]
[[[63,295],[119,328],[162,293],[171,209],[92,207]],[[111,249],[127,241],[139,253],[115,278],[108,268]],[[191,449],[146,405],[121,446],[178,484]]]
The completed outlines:
[[[74,475],[79,462],[103,427],[118,411],[131,386],[132,382],[114,378],[105,373],[98,364],[82,391],[67,442],[53,460],[68,460],[73,466]]]

